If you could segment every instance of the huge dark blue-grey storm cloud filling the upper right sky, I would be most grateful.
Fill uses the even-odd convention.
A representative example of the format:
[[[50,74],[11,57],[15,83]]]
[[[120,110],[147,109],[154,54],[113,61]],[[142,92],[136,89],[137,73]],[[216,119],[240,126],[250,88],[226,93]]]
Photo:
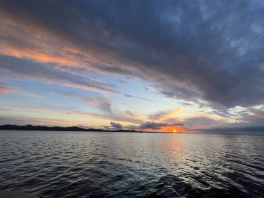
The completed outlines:
[[[101,69],[139,71],[167,97],[228,108],[264,102],[261,1],[17,0],[0,7],[122,67]]]

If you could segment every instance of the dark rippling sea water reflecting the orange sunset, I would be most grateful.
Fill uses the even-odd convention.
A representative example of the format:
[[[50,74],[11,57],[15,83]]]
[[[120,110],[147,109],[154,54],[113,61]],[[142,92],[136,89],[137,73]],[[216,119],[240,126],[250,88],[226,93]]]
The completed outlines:
[[[264,136],[0,131],[0,190],[38,197],[264,197]]]

